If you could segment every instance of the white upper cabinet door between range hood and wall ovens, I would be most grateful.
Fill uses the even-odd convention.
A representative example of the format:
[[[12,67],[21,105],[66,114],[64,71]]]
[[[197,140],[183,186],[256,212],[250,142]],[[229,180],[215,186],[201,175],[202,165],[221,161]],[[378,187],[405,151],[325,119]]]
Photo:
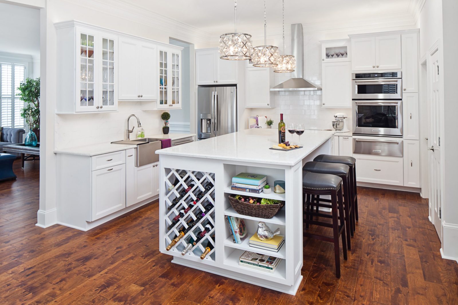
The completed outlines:
[[[322,107],[351,108],[351,62],[325,62],[322,76]]]

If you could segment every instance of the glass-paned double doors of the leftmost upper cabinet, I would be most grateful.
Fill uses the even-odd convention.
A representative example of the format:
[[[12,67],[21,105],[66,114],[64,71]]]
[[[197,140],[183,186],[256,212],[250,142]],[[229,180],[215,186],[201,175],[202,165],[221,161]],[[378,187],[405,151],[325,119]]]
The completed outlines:
[[[77,32],[80,45],[75,112],[117,110],[117,39],[101,32]],[[78,60],[77,60],[78,62]]]

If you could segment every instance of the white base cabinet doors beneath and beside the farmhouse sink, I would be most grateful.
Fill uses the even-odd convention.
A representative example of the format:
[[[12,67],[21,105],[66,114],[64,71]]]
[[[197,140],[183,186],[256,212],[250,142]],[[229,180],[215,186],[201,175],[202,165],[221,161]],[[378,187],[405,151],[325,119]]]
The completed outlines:
[[[159,162],[135,166],[135,149],[126,151],[125,206],[129,207],[159,193]]]

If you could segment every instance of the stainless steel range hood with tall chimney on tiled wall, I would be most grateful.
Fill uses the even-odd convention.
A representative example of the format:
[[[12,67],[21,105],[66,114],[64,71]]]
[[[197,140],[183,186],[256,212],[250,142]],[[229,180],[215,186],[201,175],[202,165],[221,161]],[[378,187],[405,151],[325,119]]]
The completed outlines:
[[[296,58],[296,70],[292,78],[273,87],[270,91],[321,90],[321,87],[304,79],[304,30],[302,23],[291,25],[291,55]]]

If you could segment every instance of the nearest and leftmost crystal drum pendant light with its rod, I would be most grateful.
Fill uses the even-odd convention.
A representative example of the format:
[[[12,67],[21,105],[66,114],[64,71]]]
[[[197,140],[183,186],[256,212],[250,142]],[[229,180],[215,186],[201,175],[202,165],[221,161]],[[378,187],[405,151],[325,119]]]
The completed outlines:
[[[251,35],[237,33],[237,0],[234,0],[235,31],[219,37],[219,58],[229,60],[251,59],[253,43]]]

